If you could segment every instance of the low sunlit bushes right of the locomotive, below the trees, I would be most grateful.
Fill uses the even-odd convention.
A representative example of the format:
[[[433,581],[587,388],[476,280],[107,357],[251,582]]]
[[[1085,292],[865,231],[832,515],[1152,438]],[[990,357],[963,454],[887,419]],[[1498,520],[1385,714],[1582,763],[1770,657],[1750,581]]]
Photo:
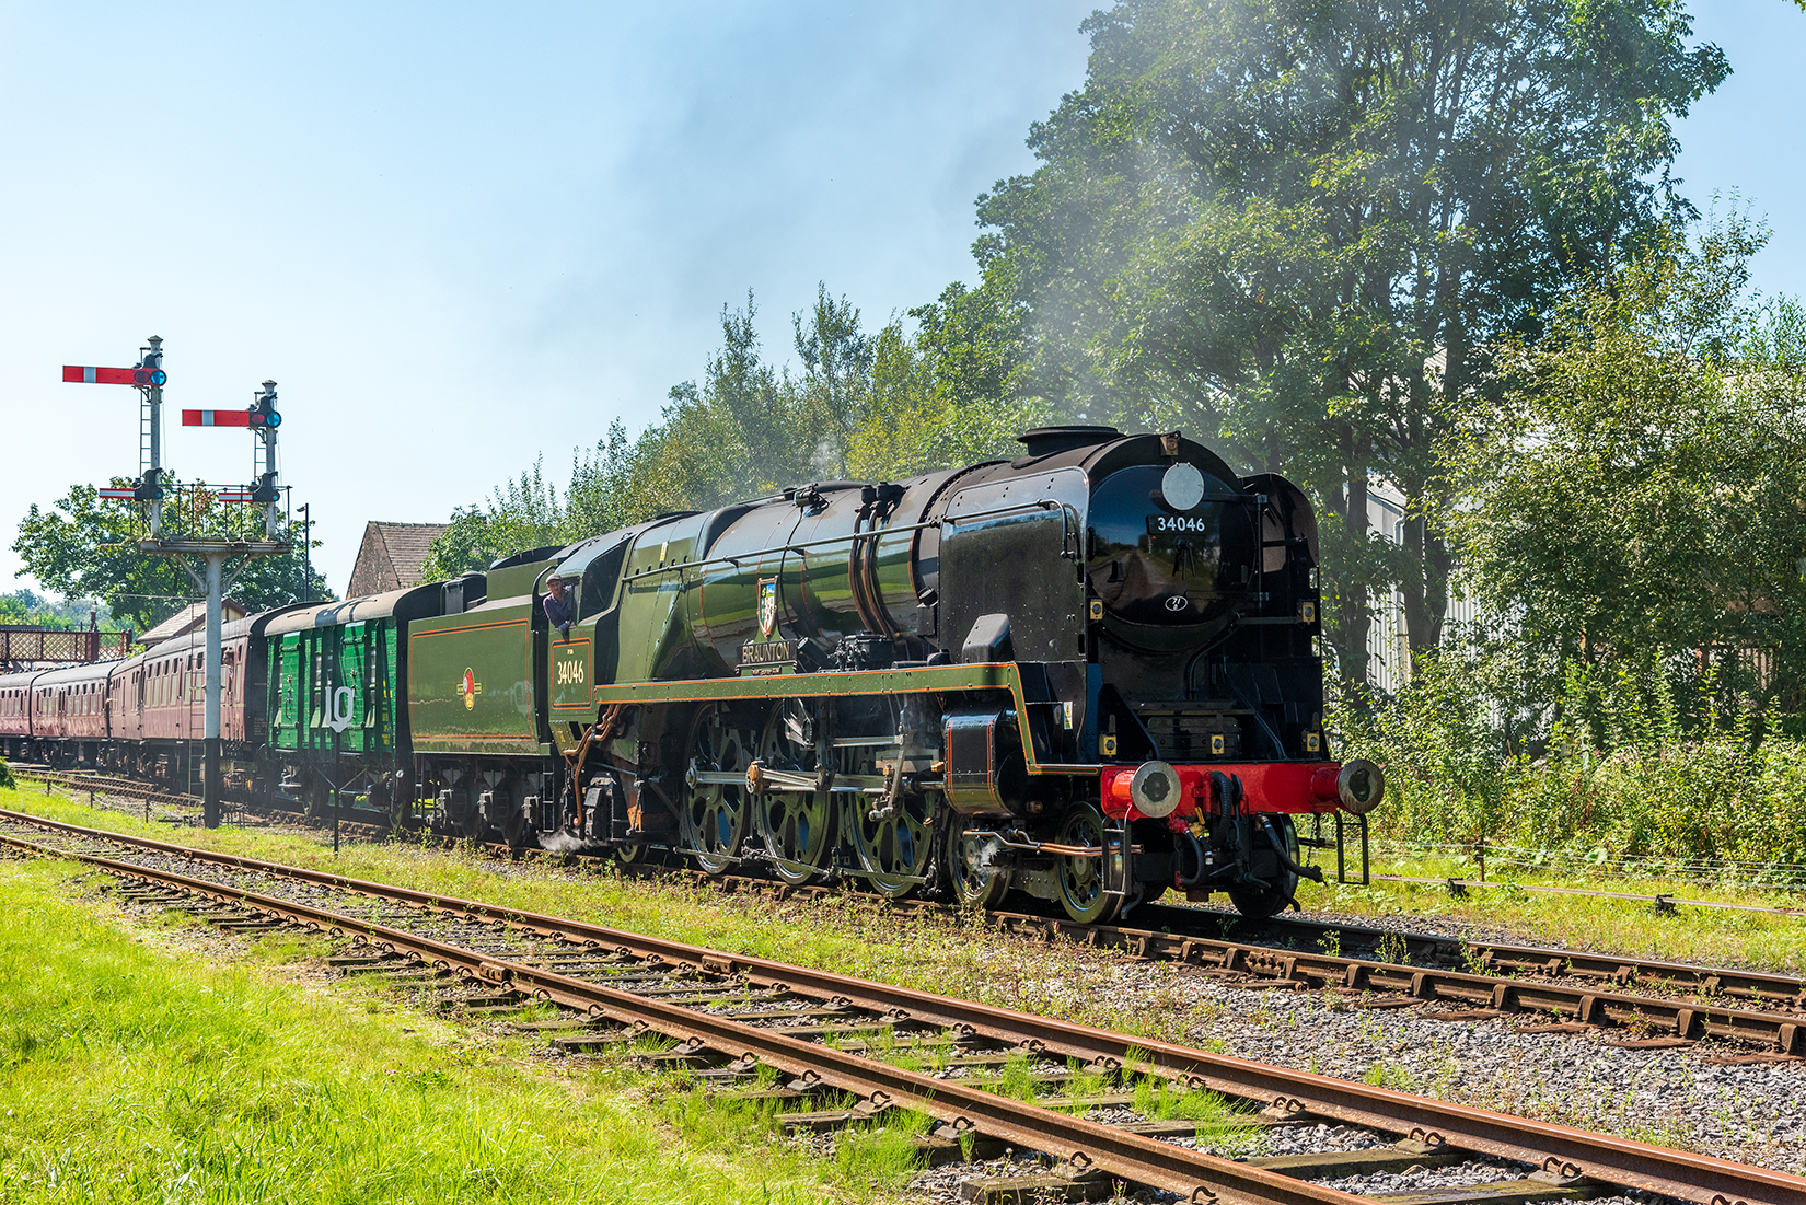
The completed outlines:
[[[1564,667],[1539,715],[1510,705],[1490,658],[1452,647],[1420,659],[1396,697],[1342,708],[1344,755],[1387,770],[1376,835],[1802,878],[1806,739],[1779,714],[1727,717],[1707,699],[1687,732],[1649,663]]]

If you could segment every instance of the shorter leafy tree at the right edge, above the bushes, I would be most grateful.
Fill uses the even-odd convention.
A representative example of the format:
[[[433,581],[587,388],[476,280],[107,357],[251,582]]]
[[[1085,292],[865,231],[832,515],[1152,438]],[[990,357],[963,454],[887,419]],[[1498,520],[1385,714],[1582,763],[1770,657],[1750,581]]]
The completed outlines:
[[[1450,439],[1472,585],[1557,681],[1654,659],[1799,706],[1806,314],[1750,298],[1764,240],[1734,219],[1602,273]]]

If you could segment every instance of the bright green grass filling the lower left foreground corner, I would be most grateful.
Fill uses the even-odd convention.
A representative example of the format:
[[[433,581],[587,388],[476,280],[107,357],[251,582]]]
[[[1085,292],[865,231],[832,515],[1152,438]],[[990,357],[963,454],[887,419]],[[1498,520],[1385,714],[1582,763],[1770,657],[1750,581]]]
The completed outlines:
[[[0,1200],[865,1201],[910,1171],[903,1131],[815,1160],[769,1107],[708,1102],[625,1060],[323,988],[318,939],[186,952],[130,932],[81,873],[0,862]],[[907,1126],[908,1118],[905,1118]]]

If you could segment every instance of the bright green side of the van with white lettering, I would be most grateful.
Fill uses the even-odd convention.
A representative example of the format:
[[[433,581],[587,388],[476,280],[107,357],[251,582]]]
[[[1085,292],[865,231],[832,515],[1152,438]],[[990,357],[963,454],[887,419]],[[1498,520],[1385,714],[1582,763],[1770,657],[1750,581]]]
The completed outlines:
[[[396,752],[396,621],[284,632],[269,658],[269,746]],[[334,724],[343,730],[336,732]]]

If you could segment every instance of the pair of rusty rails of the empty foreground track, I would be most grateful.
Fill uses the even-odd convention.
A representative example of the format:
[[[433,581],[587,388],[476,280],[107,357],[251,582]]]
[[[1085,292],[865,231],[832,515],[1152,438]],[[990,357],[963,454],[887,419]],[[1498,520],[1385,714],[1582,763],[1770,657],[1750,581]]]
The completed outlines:
[[[1369,1084],[1354,1084],[1324,1075],[1311,1075],[1308,1071],[1275,1068],[1230,1055],[1214,1055],[1170,1042],[1132,1039],[1093,1026],[1017,1014],[972,1001],[932,995],[885,983],[852,979],[833,972],[762,957],[726,954],[679,941],[647,938],[643,934],[592,925],[587,921],[459,900],[410,887],[396,887],[390,883],[372,883],[341,874],[264,862],[258,858],[191,849],[173,845],[170,842],[121,836],[99,829],[83,829],[79,826],[40,820],[22,813],[0,811],[0,817],[87,838],[119,842],[125,845],[154,849],[157,853],[173,853],[213,865],[228,865],[242,871],[289,878],[294,882],[354,891],[415,909],[488,921],[506,921],[540,936],[616,948],[634,957],[688,965],[708,972],[731,970],[744,974],[749,983],[759,986],[784,986],[786,990],[798,992],[802,995],[843,999],[854,1006],[878,1014],[979,1033],[1019,1046],[1038,1048],[1053,1057],[1069,1057],[1089,1064],[1122,1066],[1136,1071],[1159,1073],[1187,1086],[1210,1088],[1230,1097],[1257,1100],[1280,1113],[1302,1111],[1387,1133],[1438,1138],[1486,1156],[1530,1163],[1560,1178],[1584,1176],[1618,1187],[1643,1189],[1708,1205],[1806,1205],[1806,1180],[1707,1154],[1672,1151],[1611,1135],[1582,1131],[1571,1126],[1535,1122],[1488,1109],[1412,1097]],[[311,921],[334,927],[347,934],[365,934],[383,943],[396,943],[397,950],[414,950],[428,961],[442,957],[448,967],[466,968],[471,974],[495,983],[509,981],[517,986],[526,985],[527,990],[544,994],[547,999],[556,1003],[598,1008],[598,1015],[616,1019],[647,1019],[659,1030],[666,1030],[665,1023],[668,1023],[677,1028],[666,1032],[675,1033],[683,1030],[686,1037],[697,1037],[704,1044],[731,1057],[755,1055],[759,1060],[771,1062],[773,1066],[787,1071],[813,1070],[831,1086],[861,1093],[883,1091],[892,1098],[908,1104],[908,1107],[919,1107],[932,1116],[966,1116],[968,1120],[988,1118],[988,1124],[999,1127],[995,1133],[1001,1135],[1006,1127],[1017,1124],[1029,1126],[1033,1133],[1038,1135],[1038,1140],[1029,1144],[1035,1149],[1055,1151],[1067,1156],[1080,1154],[1085,1160],[1091,1160],[1096,1167],[1138,1183],[1149,1183],[1181,1194],[1196,1192],[1203,1187],[1206,1192],[1219,1196],[1221,1200],[1235,1201],[1349,1200],[1345,1194],[1335,1194],[1333,1198],[1295,1196],[1300,1187],[1297,1182],[1288,1182],[1286,1185],[1293,1196],[1275,1196],[1271,1191],[1273,1185],[1266,1180],[1237,1180],[1226,1169],[1215,1167],[1221,1160],[1192,1162],[1194,1158],[1208,1160],[1208,1156],[1199,1156],[1194,1151],[1152,1144],[1161,1149],[1149,1153],[1141,1149],[1141,1144],[1149,1140],[1136,1138],[1134,1142],[1129,1142],[1129,1138],[1134,1138],[1132,1135],[1122,1135],[1118,1131],[1111,1131],[1109,1127],[1078,1122],[1076,1118],[1051,1113],[1047,1109],[1035,1109],[1033,1106],[1020,1106],[1020,1109],[1029,1109],[1029,1113],[1022,1113],[1017,1111],[1020,1102],[1004,1102],[984,1093],[981,1093],[984,1097],[982,1100],[970,1100],[964,1095],[970,1093],[970,1089],[952,1091],[957,1086],[948,1080],[917,1077],[910,1071],[899,1071],[896,1068],[885,1068],[876,1073],[874,1079],[872,1073],[869,1073],[874,1064],[858,1060],[854,1055],[847,1055],[843,1051],[824,1051],[824,1048],[807,1042],[771,1035],[766,1030],[751,1030],[749,1026],[739,1026],[737,1023],[719,1017],[695,1019],[688,1015],[690,1010],[683,1010],[674,1004],[645,1001],[643,997],[612,992],[609,988],[601,988],[587,981],[569,979],[544,968],[504,963],[479,952],[457,950],[455,947],[441,948],[439,943],[433,943],[430,938],[405,934],[401,930],[345,918],[323,909],[294,905],[275,900],[273,896],[260,896],[247,891],[222,887],[206,880],[191,880],[168,871],[139,867],[130,862],[114,862],[96,855],[63,853],[13,836],[0,836],[0,842],[29,849],[33,853],[78,858],[81,862],[105,865],[116,873],[152,878],[154,882],[181,882],[184,889],[200,891],[220,900],[246,903],[265,911],[275,909],[284,912],[289,909],[302,909],[302,912],[309,914],[307,920]],[[289,911],[284,914],[300,918],[302,912]],[[659,1010],[675,1012],[665,1014]],[[654,1017],[657,1017],[657,1021],[652,1021]],[[683,1026],[692,1028],[684,1030]],[[824,1060],[824,1053],[833,1057]],[[807,1066],[798,1060],[807,1060]],[[858,1066],[852,1068],[847,1060],[856,1060]],[[838,1079],[831,1079],[847,1077],[854,1071],[867,1073],[858,1080],[858,1088],[854,1088],[851,1080],[843,1084]],[[1001,1113],[997,1113],[999,1109]],[[1015,1131],[1011,1129],[1010,1133]],[[1156,1154],[1158,1160],[1152,1160]],[[1243,1172],[1255,1171],[1241,1163],[1230,1163],[1230,1167],[1241,1169]],[[1190,1180],[1181,1185],[1181,1180],[1187,1176]],[[1215,1180],[1214,1176],[1230,1178]],[[1313,1191],[1322,1192],[1317,1189]],[[1252,1196],[1243,1198],[1239,1196],[1241,1192],[1250,1192]]]

